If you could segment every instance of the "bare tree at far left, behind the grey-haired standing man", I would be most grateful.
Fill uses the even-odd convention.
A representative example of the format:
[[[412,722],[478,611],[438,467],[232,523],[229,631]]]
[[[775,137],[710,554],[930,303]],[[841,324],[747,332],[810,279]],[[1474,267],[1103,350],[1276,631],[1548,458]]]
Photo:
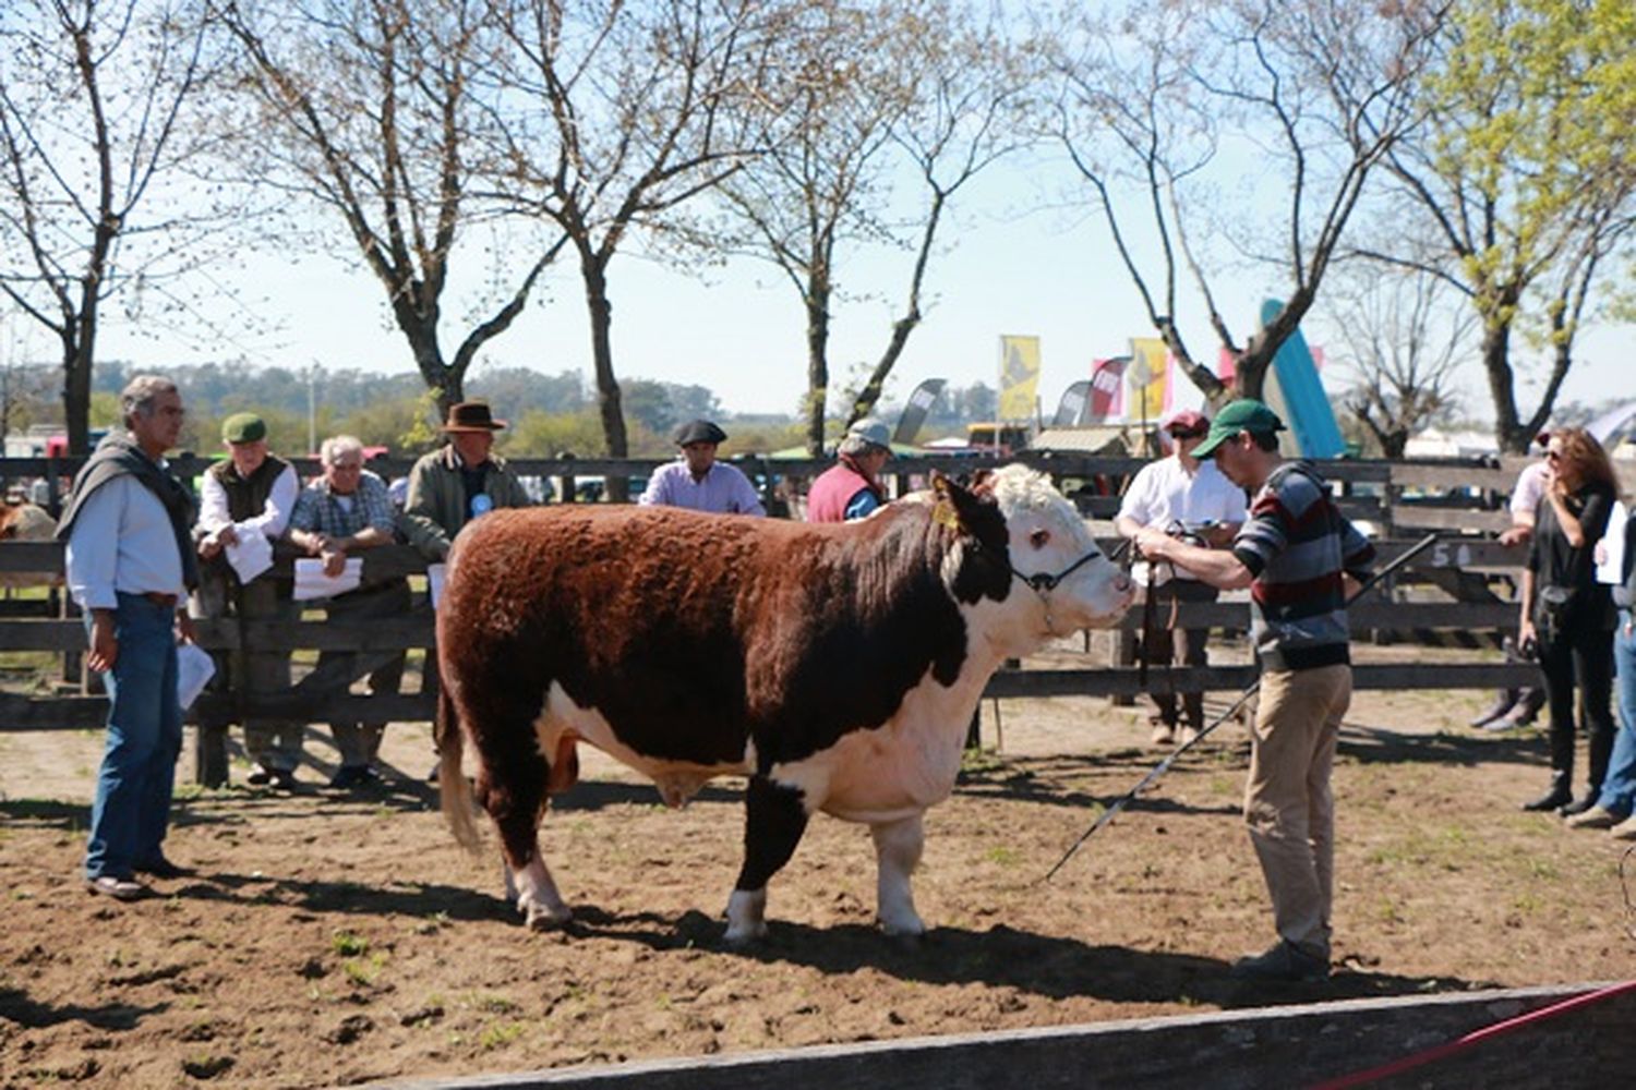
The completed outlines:
[[[0,293],[61,345],[74,453],[90,448],[103,304],[165,275],[204,214],[149,199],[195,150],[182,116],[203,49],[204,26],[185,3],[0,10]]]

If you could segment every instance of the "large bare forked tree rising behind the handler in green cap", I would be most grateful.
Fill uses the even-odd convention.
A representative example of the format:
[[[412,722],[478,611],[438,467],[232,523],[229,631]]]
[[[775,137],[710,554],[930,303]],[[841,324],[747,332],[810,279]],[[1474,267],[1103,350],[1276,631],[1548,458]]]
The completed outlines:
[[[1183,294],[1196,293],[1234,356],[1238,392],[1258,397],[1369,173],[1415,124],[1418,75],[1445,7],[1181,0],[1121,18],[1080,15],[1052,31],[1045,49],[1060,85],[1047,127],[1094,190],[1148,320],[1211,400],[1229,391],[1188,348]],[[1243,196],[1271,216],[1247,216],[1243,196],[1224,196],[1219,183],[1235,172],[1253,180]],[[1270,178],[1283,186],[1278,208]],[[1217,224],[1235,214],[1232,237]],[[1270,242],[1245,229],[1263,219],[1283,224]],[[1248,337],[1217,304],[1222,279],[1242,275],[1224,268],[1222,243],[1284,281],[1283,307]]]

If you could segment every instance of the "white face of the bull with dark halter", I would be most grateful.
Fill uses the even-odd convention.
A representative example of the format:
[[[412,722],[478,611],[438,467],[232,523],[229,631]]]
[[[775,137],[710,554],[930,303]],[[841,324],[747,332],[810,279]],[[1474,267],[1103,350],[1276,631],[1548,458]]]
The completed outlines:
[[[1027,466],[1000,469],[990,485],[1006,516],[1011,567],[1019,575],[1060,575],[1081,557],[1090,557],[1055,588],[1044,592],[1042,606],[1050,634],[1116,624],[1130,608],[1135,585],[1117,564],[1103,556],[1073,503]],[[1027,587],[1014,590],[1040,596]]]

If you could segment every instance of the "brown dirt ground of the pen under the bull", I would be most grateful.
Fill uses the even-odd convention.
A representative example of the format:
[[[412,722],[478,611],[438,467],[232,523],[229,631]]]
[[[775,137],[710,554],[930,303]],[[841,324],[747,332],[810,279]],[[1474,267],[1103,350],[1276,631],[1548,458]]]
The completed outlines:
[[[1467,729],[1487,699],[1358,695],[1335,771],[1338,972],[1283,987],[1227,976],[1271,938],[1237,724],[1037,884],[1162,752],[1139,709],[1006,701],[1000,752],[928,815],[921,943],[872,925],[867,830],[820,817],[746,951],[720,941],[731,781],[672,812],[586,755],[543,827],[578,922],[537,935],[497,858],[434,809],[424,726],[393,727],[394,778],[368,796],[321,788],[322,729],[294,796],[244,788],[242,762],[201,791],[185,757],[167,850],[196,873],[129,905],[79,879],[100,732],[0,732],[0,1085],[358,1083],[1636,976],[1636,864],[1518,812],[1544,740]]]

